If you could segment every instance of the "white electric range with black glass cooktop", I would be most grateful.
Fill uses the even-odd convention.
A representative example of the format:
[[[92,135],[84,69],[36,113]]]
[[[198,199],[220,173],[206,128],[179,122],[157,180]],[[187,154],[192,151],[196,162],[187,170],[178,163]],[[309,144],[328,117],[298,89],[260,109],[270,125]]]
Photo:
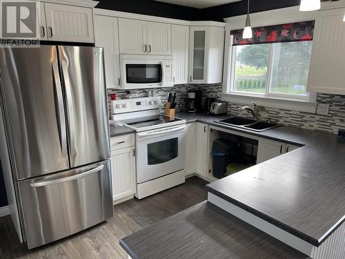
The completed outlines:
[[[111,102],[112,119],[135,130],[139,199],[185,182],[186,120],[160,113],[160,97]]]

